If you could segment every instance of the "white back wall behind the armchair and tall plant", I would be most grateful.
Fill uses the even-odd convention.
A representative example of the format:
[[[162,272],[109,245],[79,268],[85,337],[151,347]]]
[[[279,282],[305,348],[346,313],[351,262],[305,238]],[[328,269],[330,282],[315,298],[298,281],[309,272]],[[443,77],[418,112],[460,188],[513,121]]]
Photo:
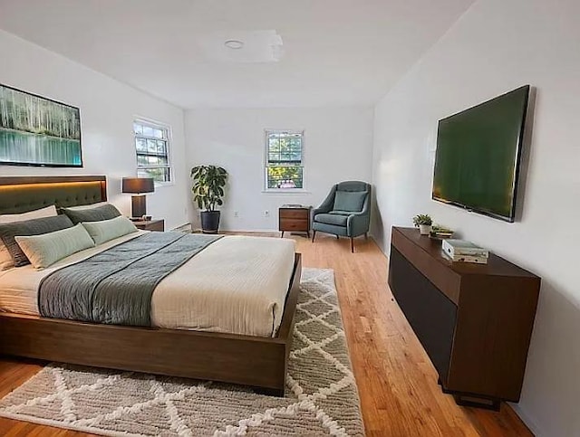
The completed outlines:
[[[304,129],[307,193],[263,193],[266,128]],[[194,109],[186,112],[186,136],[189,168],[214,164],[229,173],[221,229],[277,230],[281,204],[316,206],[337,182],[371,179],[371,108]],[[191,214],[195,225],[198,213]]]

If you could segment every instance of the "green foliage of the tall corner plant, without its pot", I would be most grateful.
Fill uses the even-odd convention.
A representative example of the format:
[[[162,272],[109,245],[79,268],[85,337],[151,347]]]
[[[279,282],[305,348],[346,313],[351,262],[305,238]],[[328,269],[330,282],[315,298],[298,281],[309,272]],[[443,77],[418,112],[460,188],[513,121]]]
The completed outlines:
[[[194,166],[191,169],[193,201],[199,209],[215,211],[216,206],[224,204],[224,187],[227,171],[220,166]]]

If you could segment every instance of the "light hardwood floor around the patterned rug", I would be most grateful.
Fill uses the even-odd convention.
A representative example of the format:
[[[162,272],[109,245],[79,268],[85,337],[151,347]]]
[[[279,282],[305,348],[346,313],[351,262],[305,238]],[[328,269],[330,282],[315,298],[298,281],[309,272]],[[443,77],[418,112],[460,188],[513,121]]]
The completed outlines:
[[[290,237],[288,235],[288,237]],[[532,435],[516,413],[456,405],[442,394],[429,357],[393,301],[387,286],[387,260],[371,239],[317,234],[314,243],[292,236],[304,267],[333,269],[344,328],[369,436]],[[0,396],[21,385],[41,367],[0,358]],[[0,419],[0,435],[88,435]]]

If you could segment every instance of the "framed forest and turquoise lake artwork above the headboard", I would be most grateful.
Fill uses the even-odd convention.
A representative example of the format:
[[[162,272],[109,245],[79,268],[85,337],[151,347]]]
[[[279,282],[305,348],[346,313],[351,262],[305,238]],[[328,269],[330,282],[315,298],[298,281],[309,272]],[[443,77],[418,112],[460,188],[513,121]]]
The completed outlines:
[[[82,167],[81,111],[0,84],[0,165]]]

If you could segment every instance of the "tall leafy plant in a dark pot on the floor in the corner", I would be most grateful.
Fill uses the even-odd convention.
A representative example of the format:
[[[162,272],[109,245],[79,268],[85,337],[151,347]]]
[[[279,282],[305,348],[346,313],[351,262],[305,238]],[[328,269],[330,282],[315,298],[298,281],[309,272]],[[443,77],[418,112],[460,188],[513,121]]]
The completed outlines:
[[[201,211],[203,233],[218,233],[219,211],[216,206],[224,204],[224,186],[227,171],[220,166],[194,166],[191,169],[193,201]]]

